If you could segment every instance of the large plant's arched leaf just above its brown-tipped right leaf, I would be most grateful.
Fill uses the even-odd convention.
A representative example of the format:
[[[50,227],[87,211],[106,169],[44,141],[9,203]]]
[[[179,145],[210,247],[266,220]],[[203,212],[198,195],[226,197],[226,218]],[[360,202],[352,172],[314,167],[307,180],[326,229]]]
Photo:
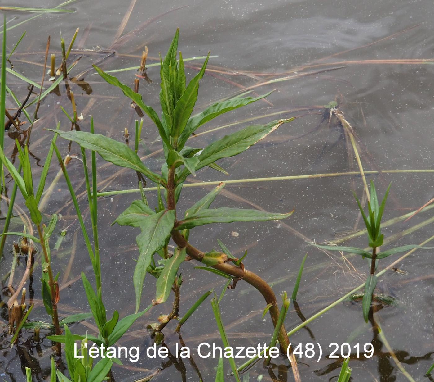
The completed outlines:
[[[246,106],[249,103],[253,103],[258,100],[261,100],[266,96],[269,96],[272,92],[273,91],[256,98],[235,97],[235,98],[231,98],[230,100],[214,103],[214,105],[207,107],[202,113],[196,114],[195,116],[192,116],[188,120],[187,126],[185,126],[185,129],[179,138],[178,147],[184,146],[184,143],[188,140],[191,134],[194,133],[199,127],[209,122],[210,120],[213,120],[217,116],[227,113],[231,110],[235,110],[238,109],[239,107]]]

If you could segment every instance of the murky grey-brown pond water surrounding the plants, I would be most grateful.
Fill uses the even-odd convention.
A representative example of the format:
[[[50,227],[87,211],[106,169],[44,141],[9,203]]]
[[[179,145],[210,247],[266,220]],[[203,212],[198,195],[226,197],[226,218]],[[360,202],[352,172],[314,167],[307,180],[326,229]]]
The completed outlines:
[[[201,134],[191,140],[190,146],[204,147],[249,123],[266,123],[289,116],[299,118],[284,124],[240,156],[220,160],[219,165],[229,176],[207,168],[198,172],[195,178],[189,178],[187,183],[251,179],[227,184],[213,206],[261,208],[273,212],[287,212],[295,207],[294,214],[275,222],[201,226],[192,230],[190,240],[201,249],[211,250],[218,248],[217,239],[220,239],[237,257],[248,249],[244,260],[246,268],[272,284],[276,295],[283,291],[292,293],[300,263],[307,253],[297,297],[299,312],[297,314],[291,303],[285,322],[287,330],[293,329],[302,319],[309,319],[359,286],[369,272],[366,260],[359,256],[344,258],[339,252],[326,253],[309,244],[311,241],[335,240],[342,232],[351,233],[363,224],[352,193],[355,190],[362,197],[359,167],[348,135],[345,136],[335,116],[329,120],[330,111],[324,105],[335,100],[351,124],[363,169],[367,171],[367,181],[375,180],[381,196],[388,183],[392,183],[385,221],[414,211],[433,197],[430,180],[434,156],[432,1],[139,0],[132,4],[134,7],[125,19],[128,22],[124,29],[119,26],[128,12],[129,1],[78,0],[65,6],[73,13],[6,11],[8,27],[16,26],[7,34],[9,51],[27,31],[11,57],[13,69],[40,83],[48,35],[51,35],[50,53],[56,53],[56,61],[60,63],[59,30],[68,44],[76,28],[80,28],[75,49],[68,59],[70,64],[82,56],[70,72],[72,77],[89,69],[92,63],[98,63],[104,70],[138,66],[141,52],[147,46],[149,81],[140,79],[139,92],[145,103],[159,110],[159,67],[151,64],[158,63],[158,52],[166,52],[176,27],[180,27],[179,50],[184,58],[204,56],[208,50],[213,55],[201,81],[197,110],[235,93],[253,90],[263,94],[276,89],[267,101],[227,113],[201,127],[198,130]],[[58,3],[19,0],[4,5],[55,7]],[[34,18],[26,21],[31,17]],[[116,37],[118,32],[126,35],[131,31],[133,33],[123,39]],[[110,51],[115,53],[102,60]],[[202,62],[203,59],[197,59],[186,63],[188,78],[197,73]],[[136,70],[126,70],[115,75],[132,86],[138,78],[136,74]],[[45,88],[48,87],[47,79]],[[130,145],[134,146],[134,121],[139,117],[130,101],[118,89],[105,83],[94,70],[86,72],[79,80],[86,84],[69,81],[69,86],[75,94],[78,114],[82,113],[84,117],[79,122],[80,128],[89,131],[90,116],[93,116],[97,133],[122,142],[126,127],[132,133]],[[28,87],[22,80],[8,74],[7,84],[20,100],[26,97]],[[14,105],[9,97],[7,107]],[[60,106],[72,113],[63,82],[57,93],[49,94],[42,101],[38,113],[40,119],[33,128],[30,151],[35,156],[32,162],[37,169],[35,181],[41,169],[37,167],[40,164],[37,158],[45,159],[52,138],[52,133],[43,129],[55,128],[57,122],[62,130],[70,128],[71,123]],[[33,110],[32,107],[28,109],[31,113]],[[28,124],[23,129],[26,126]],[[218,130],[213,130],[217,127]],[[159,171],[163,158],[161,152],[155,152],[161,148],[161,142],[157,139],[155,126],[147,118],[141,138],[139,154],[147,156],[145,163],[149,168]],[[58,143],[62,155],[66,155],[68,142],[59,139]],[[13,152],[13,144],[13,140],[6,137],[8,155]],[[68,166],[69,174],[81,195],[79,203],[86,211],[85,221],[90,227],[80,149],[75,143],[70,154],[73,158]],[[137,176],[132,170],[119,171],[100,157],[97,163],[100,191],[137,188]],[[47,184],[56,178],[58,171],[59,166],[53,161]],[[296,177],[332,173],[336,175]],[[288,176],[293,178],[278,179]],[[254,180],[256,178],[268,179]],[[148,186],[152,186],[151,182]],[[9,192],[11,189],[12,183],[9,183]],[[190,207],[210,189],[211,186],[185,188],[179,210]],[[111,226],[111,223],[139,195],[130,193],[99,199],[103,296],[108,311],[117,309],[121,316],[134,312],[132,270],[138,256],[135,245],[138,231]],[[149,203],[155,206],[155,191],[146,195]],[[17,197],[16,205],[25,208],[21,196]],[[2,218],[6,211],[3,202]],[[47,216],[52,213],[62,215],[52,246],[62,229],[67,232],[59,249],[52,251],[54,271],[60,272],[60,316],[86,312],[89,308],[79,278],[83,271],[92,279],[92,267],[63,176],[54,185],[44,213]],[[427,210],[407,222],[401,219],[384,228],[385,237],[393,239],[393,246],[424,242],[433,234],[431,217],[432,213]],[[16,217],[11,230],[21,230],[22,225]],[[345,245],[365,247],[366,237],[365,234],[357,236]],[[7,287],[12,264],[9,250],[14,239],[8,237],[0,262],[4,302],[8,298],[4,287]],[[401,255],[382,260],[378,269],[385,268]],[[383,307],[374,315],[387,341],[375,334],[371,323],[365,324],[361,304],[351,302],[337,304],[294,333],[290,337],[294,345],[318,342],[323,350],[319,362],[317,356],[300,359],[301,380],[337,380],[342,358],[328,358],[333,350],[328,347],[332,342],[339,345],[348,342],[352,346],[359,343],[362,347],[365,343],[373,343],[372,358],[366,359],[363,355],[357,358],[353,351],[350,367],[354,381],[412,380],[400,367],[414,380],[428,380],[424,374],[433,362],[434,352],[434,262],[431,257],[432,251],[417,250],[395,265],[405,274],[388,270],[380,277],[379,291],[398,301],[396,306]],[[207,290],[214,289],[220,294],[226,281],[194,269],[194,266],[193,262],[182,266],[181,315]],[[24,268],[22,261],[17,272],[22,275]],[[38,275],[33,282],[36,306],[30,319],[47,321],[40,300],[40,266],[35,272]],[[147,306],[154,296],[155,279],[147,276],[142,306]],[[181,339],[173,334],[174,324],[167,326],[165,344],[172,354],[168,359],[146,357],[145,349],[152,344],[146,327],[161,313],[168,314],[172,301],[173,296],[164,305],[152,308],[121,339],[122,345],[139,346],[141,356],[138,362],[127,361],[123,366],[115,366],[113,380],[148,380],[143,378],[154,375],[152,381],[155,382],[199,381],[201,378],[204,382],[214,381],[217,359],[202,359],[195,350],[192,359],[174,357],[176,344],[180,341],[192,349],[201,342],[221,345],[209,300],[182,327]],[[272,324],[268,315],[262,319],[265,305],[259,293],[242,281],[236,289],[226,292],[220,309],[231,345],[257,345],[269,341]],[[29,330],[24,331],[18,345],[10,348],[4,304],[1,317],[5,332],[0,338],[0,379],[23,381],[24,366],[30,366],[34,380],[46,380],[51,342],[44,339],[41,344],[35,344]],[[70,329],[73,333],[94,334],[95,323],[89,319],[71,325]],[[48,332],[41,330],[41,333],[44,337]],[[226,380],[232,380],[229,363],[224,367]],[[293,380],[289,362],[283,356],[274,359],[269,369],[264,369],[262,362],[258,362],[243,373],[246,374],[250,374],[250,381]]]

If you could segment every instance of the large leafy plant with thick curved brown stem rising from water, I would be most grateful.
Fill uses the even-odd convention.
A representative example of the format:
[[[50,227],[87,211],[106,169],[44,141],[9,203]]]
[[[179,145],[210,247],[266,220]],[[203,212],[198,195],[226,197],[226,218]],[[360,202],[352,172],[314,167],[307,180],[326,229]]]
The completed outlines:
[[[162,325],[153,328],[156,332],[160,332],[169,320],[178,316],[179,290],[182,283],[178,270],[187,255],[192,259],[202,262],[214,273],[233,279],[233,286],[239,279],[243,279],[258,289],[264,296],[266,304],[270,306],[269,312],[273,325],[276,326],[279,319],[279,309],[276,303],[276,296],[270,286],[258,275],[245,269],[240,260],[230,258],[230,256],[224,253],[225,251],[220,252],[214,249],[202,251],[192,246],[189,242],[189,235],[192,228],[204,224],[284,219],[290,216],[292,212],[268,213],[258,210],[227,207],[210,209],[211,203],[224,187],[224,183],[221,183],[213,191],[197,201],[191,208],[187,209],[183,216],[177,211],[177,203],[187,176],[190,174],[195,176],[196,171],[205,166],[210,166],[221,171],[222,169],[215,163],[218,159],[242,153],[276,130],[283,123],[290,122],[294,118],[275,120],[265,125],[248,126],[243,130],[224,136],[204,149],[186,146],[188,138],[204,123],[230,110],[260,100],[270,93],[256,98],[235,97],[218,102],[209,106],[201,113],[192,116],[191,114],[197,100],[199,81],[204,75],[209,54],[200,72],[186,86],[182,54],[179,54],[179,60],[176,59],[178,37],[179,31],[177,30],[167,55],[164,60],[161,59],[161,118],[155,110],[145,105],[138,93],[120,83],[116,77],[104,73],[95,66],[95,69],[104,80],[118,86],[157,126],[158,133],[163,142],[165,158],[165,163],[161,167],[161,174],[148,169],[141,162],[137,153],[128,146],[106,136],[82,131],[52,131],[66,140],[79,143],[82,149],[96,151],[103,159],[115,165],[127,167],[143,174],[151,181],[157,183],[159,187],[164,188],[164,197],[161,195],[161,192],[158,192],[158,206],[155,208],[155,211],[150,208],[145,194],[142,192],[141,199],[135,200],[115,220],[115,223],[119,225],[141,229],[141,233],[136,238],[140,255],[133,276],[136,312],[140,308],[143,282],[147,272],[158,278],[156,297],[153,300],[154,305],[165,302],[171,290],[174,291],[174,308],[171,314],[161,319]],[[165,203],[163,199],[165,199]],[[170,239],[177,246],[173,254],[168,251]],[[160,256],[158,261],[159,266],[154,259],[154,255],[157,253]],[[280,327],[278,339],[281,347],[286,351],[289,346],[289,340],[283,325]],[[296,365],[294,366],[296,368]]]

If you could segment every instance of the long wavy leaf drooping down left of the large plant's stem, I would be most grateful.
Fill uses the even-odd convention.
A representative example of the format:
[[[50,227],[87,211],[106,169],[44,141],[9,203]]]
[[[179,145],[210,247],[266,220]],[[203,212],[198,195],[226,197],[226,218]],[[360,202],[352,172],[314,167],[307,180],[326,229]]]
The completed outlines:
[[[144,219],[140,226],[141,233],[136,241],[140,256],[138,258],[133,282],[136,295],[136,312],[140,307],[141,292],[145,280],[146,271],[151,264],[152,255],[166,244],[175,223],[175,212],[173,209],[161,211]]]

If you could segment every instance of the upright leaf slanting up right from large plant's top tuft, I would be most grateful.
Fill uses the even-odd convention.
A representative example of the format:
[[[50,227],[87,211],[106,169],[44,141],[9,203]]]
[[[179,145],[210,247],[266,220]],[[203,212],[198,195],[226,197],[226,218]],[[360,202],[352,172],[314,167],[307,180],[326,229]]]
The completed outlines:
[[[204,76],[209,57],[210,53],[208,52],[208,56],[202,66],[201,71],[197,73],[197,75],[194,76],[194,78],[190,81],[187,89],[184,90],[184,93],[176,103],[176,107],[173,111],[173,125],[171,130],[171,136],[175,142],[178,141],[179,136],[187,125],[187,121],[190,118],[191,113],[193,113],[194,105],[196,104],[197,100],[197,92],[199,90],[199,81]]]

